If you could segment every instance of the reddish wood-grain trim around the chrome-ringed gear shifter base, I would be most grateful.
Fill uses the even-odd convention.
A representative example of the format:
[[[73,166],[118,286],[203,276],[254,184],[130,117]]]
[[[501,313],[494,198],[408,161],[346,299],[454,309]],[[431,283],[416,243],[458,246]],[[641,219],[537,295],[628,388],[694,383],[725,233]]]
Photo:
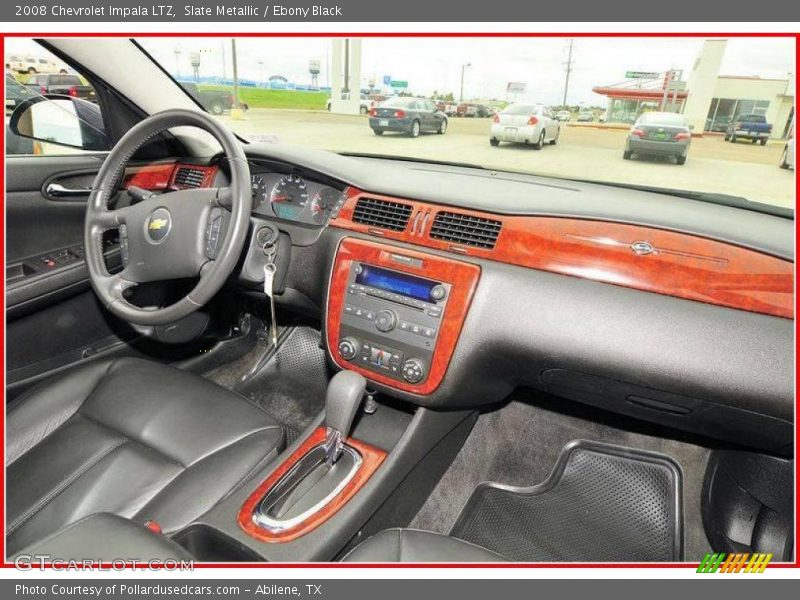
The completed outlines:
[[[253,522],[253,514],[258,507],[259,502],[266,496],[270,488],[275,485],[278,480],[291,469],[297,461],[305,456],[309,450],[325,441],[325,429],[318,427],[314,432],[295,450],[289,458],[283,461],[278,467],[267,477],[264,482],[259,485],[247,500],[245,500],[242,508],[239,510],[237,522],[239,526],[250,536],[261,542],[279,543],[291,542],[297,538],[307,534],[322,525],[325,521],[330,519],[336,512],[342,508],[347,502],[355,496],[364,484],[372,477],[373,473],[378,469],[381,463],[386,458],[386,452],[380,448],[375,448],[364,442],[360,442],[353,438],[348,438],[346,444],[354,448],[361,454],[362,463],[353,479],[342,489],[339,494],[333,498],[326,506],[314,513],[308,519],[283,531],[272,531],[265,529]]]

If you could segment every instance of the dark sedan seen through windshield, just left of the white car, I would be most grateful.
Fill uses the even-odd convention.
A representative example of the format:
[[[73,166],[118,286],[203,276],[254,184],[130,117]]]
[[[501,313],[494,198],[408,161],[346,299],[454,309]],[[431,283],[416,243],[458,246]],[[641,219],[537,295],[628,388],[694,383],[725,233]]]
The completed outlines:
[[[375,135],[384,131],[407,133],[419,137],[422,132],[445,133],[447,115],[426,98],[389,98],[369,111],[369,126]]]

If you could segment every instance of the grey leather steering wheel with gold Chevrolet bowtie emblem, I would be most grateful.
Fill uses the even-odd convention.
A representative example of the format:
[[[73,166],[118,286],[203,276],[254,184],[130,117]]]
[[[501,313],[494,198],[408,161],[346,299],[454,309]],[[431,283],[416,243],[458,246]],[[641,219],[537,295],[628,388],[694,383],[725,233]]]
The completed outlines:
[[[181,126],[199,127],[217,139],[230,165],[230,186],[152,195],[109,209],[134,153],[159,133]],[[251,210],[250,168],[233,133],[202,112],[174,109],[155,114],[122,137],[92,185],[84,227],[92,287],[111,313],[129,323],[154,326],[182,319],[211,300],[233,271]],[[119,229],[124,256],[122,271],[113,274],[103,259],[103,234],[111,229]],[[191,277],[200,278],[194,289],[163,308],[140,308],[124,295],[141,283]]]

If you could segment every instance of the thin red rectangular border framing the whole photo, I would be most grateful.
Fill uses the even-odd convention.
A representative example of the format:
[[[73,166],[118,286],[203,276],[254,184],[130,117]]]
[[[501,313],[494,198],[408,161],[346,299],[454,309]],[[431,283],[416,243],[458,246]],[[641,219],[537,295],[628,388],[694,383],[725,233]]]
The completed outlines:
[[[265,37],[265,38],[320,38],[320,37],[359,37],[359,38],[556,38],[556,37],[573,37],[573,38],[639,38],[639,37],[654,37],[654,38],[708,38],[708,37],[726,37],[726,38],[793,38],[795,40],[795,70],[797,64],[800,63],[800,33],[797,32],[766,32],[766,33],[749,33],[749,32],[719,32],[719,31],[696,31],[696,32],[604,32],[604,33],[588,33],[588,32],[366,32],[366,31],[350,31],[350,32],[274,32],[274,33],[258,33],[258,32],[194,32],[194,33],[168,33],[168,32],[0,32],[0,50],[5,55],[5,39],[6,38],[43,38],[43,37],[58,37],[58,38],[97,38],[97,37],[237,37],[237,38],[250,38],[250,37]],[[795,112],[797,107],[798,91],[800,91],[800,83],[795,78]],[[2,134],[3,145],[5,147],[5,129]],[[800,176],[795,170],[795,189],[797,189],[797,182],[800,181]],[[5,152],[3,153],[3,169],[0,172],[0,186],[3,188],[2,208],[3,214],[0,216],[0,260],[5,261]],[[796,199],[795,199],[796,200]],[[797,246],[798,235],[795,226],[795,246]],[[796,284],[795,284],[796,290]],[[5,307],[5,278],[2,282],[3,291],[3,306]],[[795,314],[797,313],[798,299],[795,293]],[[3,343],[5,348],[5,319],[0,324],[0,332],[2,333]],[[795,356],[797,348],[797,324],[795,323]],[[3,386],[5,393],[5,352],[2,357],[2,375],[0,375],[0,385]],[[800,475],[800,467],[797,463],[797,448],[800,446],[800,435],[796,423],[796,389],[797,389],[797,364],[795,359],[795,486],[797,485],[798,475]],[[5,431],[5,410],[0,415],[0,426]],[[2,448],[3,465],[5,465],[5,444]],[[5,468],[0,469],[0,489],[5,490]],[[793,563],[770,563],[770,567],[774,568],[800,568],[800,556],[797,553],[797,517],[800,513],[800,499],[795,492],[795,561]],[[0,503],[0,522],[3,525],[3,533],[5,534],[5,503]],[[2,568],[15,568],[13,563],[5,562],[5,535],[3,535],[3,564]],[[699,563],[196,563],[195,566],[199,568],[470,568],[479,567],[487,569],[527,569],[527,568],[556,568],[556,569],[572,569],[572,568],[610,568],[610,569],[634,569],[634,568],[680,568],[691,569],[697,568]],[[95,566],[108,568],[110,563],[97,564]]]

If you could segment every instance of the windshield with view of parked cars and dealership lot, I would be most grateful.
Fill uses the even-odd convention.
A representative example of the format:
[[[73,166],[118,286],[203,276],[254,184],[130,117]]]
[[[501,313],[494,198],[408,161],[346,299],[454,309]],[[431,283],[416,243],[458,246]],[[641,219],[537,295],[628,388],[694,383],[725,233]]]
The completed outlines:
[[[246,140],[794,207],[790,38],[136,41]],[[631,134],[656,115],[691,135]]]

